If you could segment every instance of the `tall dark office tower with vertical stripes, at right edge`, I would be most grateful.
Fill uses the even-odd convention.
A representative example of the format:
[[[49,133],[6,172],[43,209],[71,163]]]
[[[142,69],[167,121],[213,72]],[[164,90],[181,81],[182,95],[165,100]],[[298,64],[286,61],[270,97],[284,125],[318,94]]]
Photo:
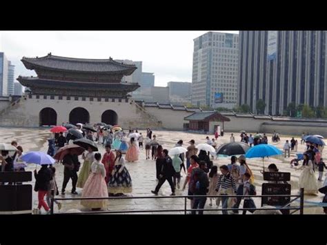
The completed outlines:
[[[288,104],[327,106],[326,31],[241,31],[238,104],[282,115]]]

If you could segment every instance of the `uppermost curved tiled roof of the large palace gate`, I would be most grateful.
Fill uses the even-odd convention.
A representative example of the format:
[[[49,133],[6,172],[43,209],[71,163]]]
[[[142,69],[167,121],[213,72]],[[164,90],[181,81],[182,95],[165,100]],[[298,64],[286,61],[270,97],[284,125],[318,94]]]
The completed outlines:
[[[128,65],[119,63],[113,59],[76,59],[68,57],[59,57],[48,54],[45,57],[21,59],[24,66],[30,70],[35,68],[48,68],[51,70],[69,70],[78,72],[120,72],[124,75],[131,75],[137,67],[135,65]]]

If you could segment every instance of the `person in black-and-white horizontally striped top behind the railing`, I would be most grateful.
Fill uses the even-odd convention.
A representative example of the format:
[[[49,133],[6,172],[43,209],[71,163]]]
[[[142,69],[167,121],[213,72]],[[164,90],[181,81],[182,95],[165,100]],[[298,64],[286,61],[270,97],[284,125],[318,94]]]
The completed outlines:
[[[220,166],[221,175],[218,177],[216,192],[221,195],[222,208],[228,208],[228,197],[226,195],[232,195],[237,193],[236,180],[228,171],[228,166]],[[236,201],[236,200],[235,200]],[[231,207],[231,206],[230,206]],[[228,215],[228,211],[223,210],[223,215]]]

